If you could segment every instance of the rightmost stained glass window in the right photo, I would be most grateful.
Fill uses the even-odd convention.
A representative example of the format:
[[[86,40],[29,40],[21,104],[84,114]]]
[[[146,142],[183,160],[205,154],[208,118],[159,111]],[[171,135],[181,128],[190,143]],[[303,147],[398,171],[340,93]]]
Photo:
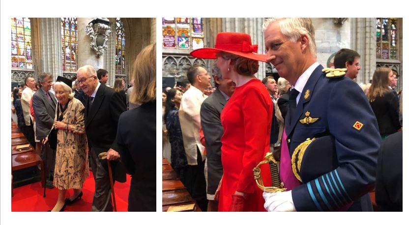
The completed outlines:
[[[377,58],[398,59],[397,57],[397,19],[377,18]]]

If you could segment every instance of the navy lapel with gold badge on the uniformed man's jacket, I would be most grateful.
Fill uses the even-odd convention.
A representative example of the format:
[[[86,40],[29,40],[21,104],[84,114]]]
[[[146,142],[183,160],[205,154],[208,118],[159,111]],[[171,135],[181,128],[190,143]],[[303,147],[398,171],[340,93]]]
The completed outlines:
[[[311,100],[315,85],[317,84],[317,81],[320,79],[322,75],[322,69],[323,67],[319,65],[314,70],[314,72],[311,74],[310,78],[308,78],[308,81],[305,84],[304,89],[302,90],[301,97],[298,101],[297,107],[295,108],[294,118],[290,118],[290,120],[286,120],[286,133],[288,136],[290,136],[290,134],[292,133],[292,130],[294,129],[295,125],[298,123],[299,118],[304,112],[304,105]],[[308,93],[306,95],[307,90],[308,90]],[[287,114],[289,112],[290,110],[287,110]]]

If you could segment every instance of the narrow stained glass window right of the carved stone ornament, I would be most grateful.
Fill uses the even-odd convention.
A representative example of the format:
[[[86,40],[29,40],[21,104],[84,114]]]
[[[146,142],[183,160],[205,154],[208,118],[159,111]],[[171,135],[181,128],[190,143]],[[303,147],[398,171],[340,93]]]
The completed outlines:
[[[117,38],[115,39],[115,73],[125,74],[125,30],[120,18],[117,18]]]

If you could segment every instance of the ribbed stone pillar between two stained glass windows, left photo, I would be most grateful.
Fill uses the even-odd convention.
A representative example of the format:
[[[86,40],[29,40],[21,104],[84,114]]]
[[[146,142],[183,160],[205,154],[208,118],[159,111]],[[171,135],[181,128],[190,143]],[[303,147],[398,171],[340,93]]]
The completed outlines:
[[[60,18],[33,18],[32,43],[35,74],[62,75]]]

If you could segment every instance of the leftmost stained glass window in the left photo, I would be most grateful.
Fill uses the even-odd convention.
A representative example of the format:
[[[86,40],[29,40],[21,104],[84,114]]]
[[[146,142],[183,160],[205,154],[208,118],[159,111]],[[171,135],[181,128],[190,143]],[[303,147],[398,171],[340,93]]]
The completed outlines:
[[[29,18],[11,18],[11,67],[33,69]]]

